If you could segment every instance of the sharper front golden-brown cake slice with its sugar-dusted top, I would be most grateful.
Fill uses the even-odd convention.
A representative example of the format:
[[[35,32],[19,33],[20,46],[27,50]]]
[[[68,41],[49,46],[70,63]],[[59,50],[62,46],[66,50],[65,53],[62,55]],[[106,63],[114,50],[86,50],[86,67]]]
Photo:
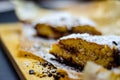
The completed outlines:
[[[50,53],[72,64],[84,67],[87,61],[94,61],[106,68],[118,63],[120,37],[71,34],[60,38],[50,49]]]

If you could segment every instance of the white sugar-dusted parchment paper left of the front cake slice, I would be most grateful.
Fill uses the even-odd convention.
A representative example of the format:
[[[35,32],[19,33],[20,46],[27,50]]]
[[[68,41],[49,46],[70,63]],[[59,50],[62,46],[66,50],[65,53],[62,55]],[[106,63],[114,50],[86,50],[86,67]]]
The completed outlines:
[[[23,28],[24,37],[21,39],[21,43],[24,43],[24,44],[23,44],[23,46],[21,46],[21,49],[23,49],[27,52],[30,52],[48,62],[50,62],[58,69],[65,70],[70,78],[80,79],[81,73],[73,70],[73,67],[59,63],[58,61],[55,61],[55,60],[51,60],[51,58],[56,59],[54,55],[49,53],[51,45],[53,43],[55,43],[56,40],[45,39],[45,38],[41,38],[41,37],[34,37],[32,35],[32,33],[34,31],[32,31],[33,29],[30,29],[33,27],[28,27],[29,31],[28,31],[28,28],[26,28],[26,27]],[[24,64],[25,64],[25,66],[27,66],[30,63],[27,61]]]

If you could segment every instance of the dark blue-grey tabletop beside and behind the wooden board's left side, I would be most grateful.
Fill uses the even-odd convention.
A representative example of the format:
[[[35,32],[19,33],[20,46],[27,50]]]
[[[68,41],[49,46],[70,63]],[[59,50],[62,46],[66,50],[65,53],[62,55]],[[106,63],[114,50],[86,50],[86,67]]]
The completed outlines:
[[[0,24],[18,22],[15,12],[8,11],[0,13]],[[20,80],[10,60],[0,43],[0,80]]]

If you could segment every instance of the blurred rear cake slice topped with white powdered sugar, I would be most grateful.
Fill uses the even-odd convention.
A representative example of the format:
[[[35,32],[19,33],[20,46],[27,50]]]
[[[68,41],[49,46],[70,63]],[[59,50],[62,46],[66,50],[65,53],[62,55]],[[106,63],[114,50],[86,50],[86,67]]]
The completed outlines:
[[[71,33],[89,33],[101,35],[94,26],[95,23],[87,18],[77,18],[70,14],[61,13],[49,15],[34,23],[38,36],[60,38]]]

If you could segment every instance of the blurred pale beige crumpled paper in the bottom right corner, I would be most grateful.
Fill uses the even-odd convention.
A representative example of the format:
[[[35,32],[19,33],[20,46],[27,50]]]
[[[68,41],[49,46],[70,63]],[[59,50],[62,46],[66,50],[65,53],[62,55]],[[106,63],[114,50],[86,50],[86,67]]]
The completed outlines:
[[[120,68],[107,70],[93,62],[87,62],[83,80],[120,80]]]

